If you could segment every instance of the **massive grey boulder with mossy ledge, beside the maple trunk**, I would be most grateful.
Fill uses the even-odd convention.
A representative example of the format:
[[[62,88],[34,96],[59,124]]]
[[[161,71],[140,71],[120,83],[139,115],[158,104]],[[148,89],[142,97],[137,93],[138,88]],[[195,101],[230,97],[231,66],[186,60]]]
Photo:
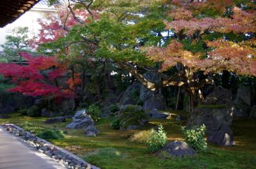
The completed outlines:
[[[233,114],[231,92],[218,86],[205,98],[202,105],[193,110],[188,126],[205,124],[207,142],[225,146],[234,145],[234,136],[230,128]]]

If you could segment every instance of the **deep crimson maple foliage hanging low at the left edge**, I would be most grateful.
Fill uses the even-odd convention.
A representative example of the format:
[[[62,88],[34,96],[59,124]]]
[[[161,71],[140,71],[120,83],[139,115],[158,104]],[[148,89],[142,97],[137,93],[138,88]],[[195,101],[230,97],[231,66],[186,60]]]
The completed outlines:
[[[57,61],[56,57],[33,57],[20,53],[27,62],[25,65],[1,63],[0,73],[11,78],[16,84],[10,92],[21,92],[28,96],[53,96],[54,98],[74,97],[74,88],[81,83],[79,76],[68,78],[68,87],[58,85],[58,78],[68,74],[66,64]]]

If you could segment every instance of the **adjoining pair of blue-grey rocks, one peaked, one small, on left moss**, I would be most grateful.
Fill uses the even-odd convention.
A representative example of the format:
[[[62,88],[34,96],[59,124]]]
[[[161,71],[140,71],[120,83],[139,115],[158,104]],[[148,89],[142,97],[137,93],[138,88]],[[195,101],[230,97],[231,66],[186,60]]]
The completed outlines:
[[[99,131],[94,126],[94,121],[86,109],[79,110],[72,117],[72,122],[66,126],[70,129],[84,129],[86,136],[97,136]]]

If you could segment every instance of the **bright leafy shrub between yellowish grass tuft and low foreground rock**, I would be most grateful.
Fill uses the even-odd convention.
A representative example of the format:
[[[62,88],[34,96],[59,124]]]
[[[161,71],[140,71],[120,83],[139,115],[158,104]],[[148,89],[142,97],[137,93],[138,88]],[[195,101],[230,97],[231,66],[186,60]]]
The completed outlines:
[[[166,133],[162,125],[158,126],[158,131],[155,129],[150,130],[150,136],[147,140],[148,143],[148,152],[156,152],[162,147],[164,147],[166,143]]]

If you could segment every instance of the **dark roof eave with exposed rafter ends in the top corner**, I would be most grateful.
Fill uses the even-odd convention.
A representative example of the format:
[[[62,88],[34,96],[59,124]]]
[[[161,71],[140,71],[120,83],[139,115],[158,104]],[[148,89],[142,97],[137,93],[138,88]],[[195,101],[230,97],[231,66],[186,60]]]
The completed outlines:
[[[0,3],[0,27],[10,24],[30,10],[40,0],[2,0]]]

